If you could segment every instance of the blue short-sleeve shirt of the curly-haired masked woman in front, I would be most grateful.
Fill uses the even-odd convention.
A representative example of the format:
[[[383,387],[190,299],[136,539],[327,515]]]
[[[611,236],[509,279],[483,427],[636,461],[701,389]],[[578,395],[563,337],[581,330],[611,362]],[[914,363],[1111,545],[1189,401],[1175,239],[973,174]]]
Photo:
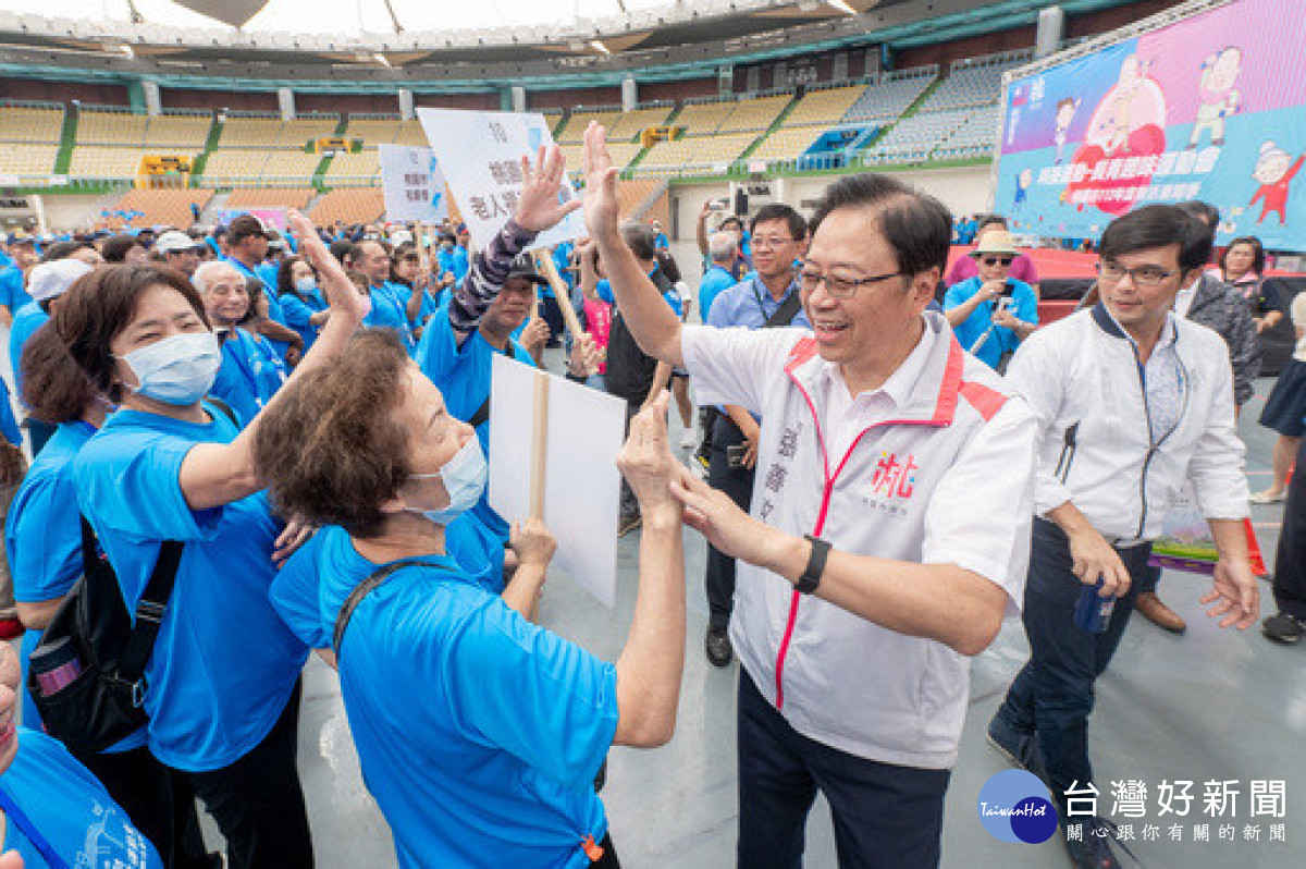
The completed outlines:
[[[334,622],[366,572],[324,550]],[[593,779],[616,732],[616,670],[423,559],[363,598],[340,653],[363,776],[401,866],[588,866],[607,831]],[[364,567],[364,571],[367,568]],[[414,686],[422,702],[383,685]]]

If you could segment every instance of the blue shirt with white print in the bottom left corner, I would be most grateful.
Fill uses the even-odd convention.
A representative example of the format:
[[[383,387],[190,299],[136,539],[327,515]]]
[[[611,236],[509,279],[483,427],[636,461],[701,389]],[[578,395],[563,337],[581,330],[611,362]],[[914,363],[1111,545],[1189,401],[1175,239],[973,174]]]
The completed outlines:
[[[0,776],[3,802],[13,804],[63,861],[76,869],[163,869],[104,785],[59,740],[17,728],[18,753]],[[4,849],[16,849],[29,869],[48,865],[13,814],[5,818]]]

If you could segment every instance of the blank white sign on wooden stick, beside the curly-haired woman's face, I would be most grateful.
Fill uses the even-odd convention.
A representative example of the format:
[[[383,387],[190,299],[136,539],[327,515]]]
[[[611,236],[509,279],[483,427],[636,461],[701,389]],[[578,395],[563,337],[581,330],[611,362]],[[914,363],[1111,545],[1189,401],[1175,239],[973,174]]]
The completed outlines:
[[[542,519],[554,565],[611,608],[626,402],[495,354],[490,388],[490,506]]]

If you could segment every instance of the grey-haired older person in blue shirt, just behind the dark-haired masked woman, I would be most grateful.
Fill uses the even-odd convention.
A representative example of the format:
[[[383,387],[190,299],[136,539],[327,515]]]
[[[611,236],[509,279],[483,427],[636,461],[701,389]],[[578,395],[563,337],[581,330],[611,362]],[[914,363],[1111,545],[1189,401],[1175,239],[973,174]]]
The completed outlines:
[[[248,423],[286,382],[286,363],[268,338],[236,325],[249,312],[249,290],[235,267],[205,263],[191,281],[222,346],[222,366],[209,395]]]

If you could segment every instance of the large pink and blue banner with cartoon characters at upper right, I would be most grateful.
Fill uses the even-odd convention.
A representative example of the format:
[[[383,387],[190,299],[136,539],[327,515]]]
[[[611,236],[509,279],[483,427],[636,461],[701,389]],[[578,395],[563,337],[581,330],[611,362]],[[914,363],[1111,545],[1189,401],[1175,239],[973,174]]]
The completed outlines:
[[[1136,205],[1202,199],[1217,242],[1306,250],[1306,13],[1237,0],[1013,80],[994,209],[1097,238]]]

